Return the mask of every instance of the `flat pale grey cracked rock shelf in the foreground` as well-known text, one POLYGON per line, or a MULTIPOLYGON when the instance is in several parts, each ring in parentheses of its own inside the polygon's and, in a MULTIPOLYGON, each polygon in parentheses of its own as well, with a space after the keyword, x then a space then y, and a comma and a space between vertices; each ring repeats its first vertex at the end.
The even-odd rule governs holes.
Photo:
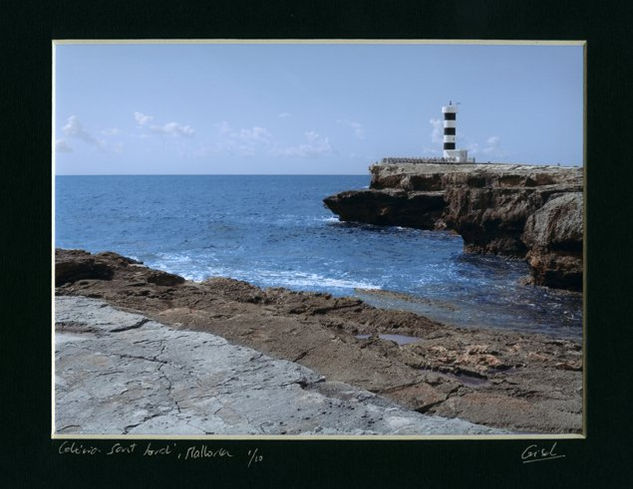
POLYGON ((410 411, 297 363, 85 297, 57 297, 59 434, 435 435, 503 430, 410 411))

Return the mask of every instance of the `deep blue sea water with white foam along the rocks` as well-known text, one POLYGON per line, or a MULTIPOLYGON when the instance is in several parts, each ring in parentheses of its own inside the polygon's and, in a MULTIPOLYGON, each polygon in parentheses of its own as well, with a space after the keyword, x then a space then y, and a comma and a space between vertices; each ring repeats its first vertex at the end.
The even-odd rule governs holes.
POLYGON ((357 295, 461 326, 579 337, 578 294, 520 285, 520 260, 445 232, 346 224, 322 204, 368 176, 56 177, 55 246, 116 251, 192 280, 357 295), (419 297, 399 301, 357 289, 419 297))

